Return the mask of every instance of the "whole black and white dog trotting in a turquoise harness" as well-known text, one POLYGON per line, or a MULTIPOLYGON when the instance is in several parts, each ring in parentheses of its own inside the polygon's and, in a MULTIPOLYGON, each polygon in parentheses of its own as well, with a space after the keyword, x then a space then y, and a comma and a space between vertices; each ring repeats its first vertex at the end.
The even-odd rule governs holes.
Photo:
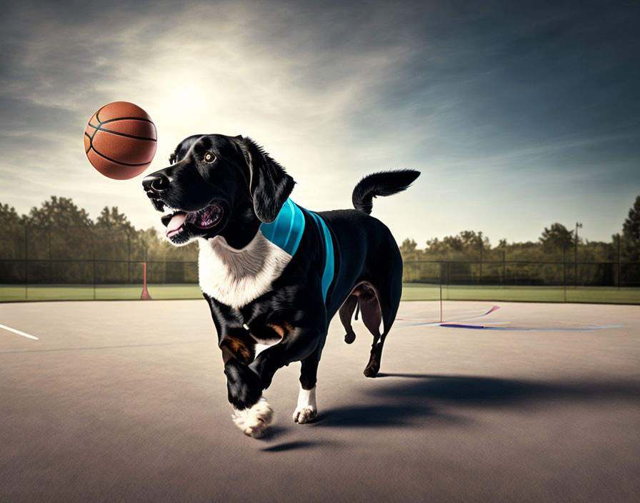
POLYGON ((419 171, 365 176, 355 209, 315 213, 289 199, 294 179, 249 138, 189 136, 169 162, 142 186, 172 244, 199 241, 199 284, 236 425, 264 434, 273 410, 263 392, 291 362, 301 362, 294 422, 316 418, 316 374, 336 312, 351 344, 359 309, 374 337, 364 375, 376 377, 399 307, 402 260, 391 231, 370 216, 372 199, 403 191, 419 171))

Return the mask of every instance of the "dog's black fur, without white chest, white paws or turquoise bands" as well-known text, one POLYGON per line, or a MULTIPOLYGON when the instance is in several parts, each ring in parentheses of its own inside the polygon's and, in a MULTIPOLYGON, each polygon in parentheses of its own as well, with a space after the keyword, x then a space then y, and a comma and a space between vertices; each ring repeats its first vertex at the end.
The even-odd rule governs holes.
MULTIPOLYGON (((185 223, 171 236, 175 244, 194 237, 223 236, 230 246, 241 249, 254 239, 262 222, 276 218, 294 186, 282 166, 242 136, 189 136, 170 161, 171 166, 143 181, 156 209, 169 206, 194 212, 211 204, 222 209, 219 221, 207 229, 185 223), (214 162, 204 161, 207 152, 215 156, 214 162)), ((374 336, 364 373, 377 374, 384 339, 400 302, 402 261, 389 229, 369 216, 371 199, 406 189, 418 175, 404 170, 366 176, 354 189, 356 209, 319 212, 335 254, 336 272, 326 302, 321 291, 325 252, 306 210, 298 250, 268 292, 239 308, 204 294, 218 333, 229 402, 236 409, 255 404, 277 369, 291 362, 301 362, 302 387, 313 388, 327 328, 338 311, 347 332, 345 340, 352 342, 356 336, 351 317, 360 308, 374 336), (256 357, 256 338, 281 340, 256 357)), ((163 221, 166 224, 169 219, 163 221)))

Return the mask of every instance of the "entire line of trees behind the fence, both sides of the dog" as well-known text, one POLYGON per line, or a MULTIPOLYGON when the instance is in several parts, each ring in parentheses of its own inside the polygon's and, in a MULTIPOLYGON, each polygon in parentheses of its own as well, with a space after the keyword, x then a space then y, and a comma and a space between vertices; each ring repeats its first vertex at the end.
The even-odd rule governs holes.
MULTIPOLYGON (((197 280, 197 244, 176 248, 153 227, 136 229, 117 206, 91 219, 66 197, 51 196, 22 215, 0 203, 0 237, 0 283, 139 282, 136 262, 143 261, 157 282, 197 280)), ((406 281, 619 285, 626 274, 628 284, 640 284, 639 265, 629 264, 640 262, 640 196, 611 241, 576 239, 576 229, 554 223, 537 241, 500 239, 492 246, 481 231, 461 231, 425 245, 401 244, 406 281), (575 269, 566 266, 572 262, 575 269), (597 265, 579 271, 577 262, 597 265)))

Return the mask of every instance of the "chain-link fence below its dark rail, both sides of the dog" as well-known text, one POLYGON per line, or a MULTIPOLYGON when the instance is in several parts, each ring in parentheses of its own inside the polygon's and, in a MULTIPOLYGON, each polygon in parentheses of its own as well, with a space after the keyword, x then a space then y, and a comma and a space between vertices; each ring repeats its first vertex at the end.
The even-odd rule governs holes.
MULTIPOLYGON (((199 299, 195 261, 0 259, 0 301, 199 299)), ((640 304, 640 262, 407 261, 405 300, 640 304)))

